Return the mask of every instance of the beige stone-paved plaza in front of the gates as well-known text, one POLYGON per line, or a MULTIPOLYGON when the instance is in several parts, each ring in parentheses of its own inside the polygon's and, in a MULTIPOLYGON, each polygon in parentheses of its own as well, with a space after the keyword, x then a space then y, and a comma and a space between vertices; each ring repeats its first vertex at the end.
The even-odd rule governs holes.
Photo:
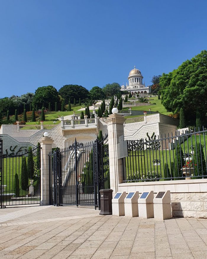
POLYGON ((207 219, 100 216, 94 208, 0 210, 1 259, 206 259, 207 219))

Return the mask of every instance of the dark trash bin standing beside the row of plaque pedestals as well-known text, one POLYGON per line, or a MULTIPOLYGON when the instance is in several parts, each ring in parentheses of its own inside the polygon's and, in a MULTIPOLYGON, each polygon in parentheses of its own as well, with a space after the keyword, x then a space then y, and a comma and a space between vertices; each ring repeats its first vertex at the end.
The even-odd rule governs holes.
POLYGON ((112 192, 111 189, 101 189, 101 212, 99 215, 112 215, 112 192))

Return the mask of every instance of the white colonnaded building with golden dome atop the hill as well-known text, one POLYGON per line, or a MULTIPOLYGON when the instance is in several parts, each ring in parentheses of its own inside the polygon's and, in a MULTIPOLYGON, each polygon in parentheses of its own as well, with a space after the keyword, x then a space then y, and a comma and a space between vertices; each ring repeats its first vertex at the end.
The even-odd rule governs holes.
POLYGON ((134 67, 129 73, 128 84, 121 86, 121 90, 129 91, 132 95, 145 95, 151 93, 151 86, 145 86, 141 71, 134 67))

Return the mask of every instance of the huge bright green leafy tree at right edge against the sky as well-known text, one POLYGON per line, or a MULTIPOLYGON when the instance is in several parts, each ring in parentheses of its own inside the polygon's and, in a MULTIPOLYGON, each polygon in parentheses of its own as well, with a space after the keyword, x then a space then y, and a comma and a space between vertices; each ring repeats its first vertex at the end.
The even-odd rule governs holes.
MULTIPOLYGON (((196 108, 206 114, 207 51, 183 62, 176 70, 160 78, 162 104, 174 113, 185 110, 187 122, 195 123, 196 108)), ((203 118, 204 119, 204 118, 203 118)))

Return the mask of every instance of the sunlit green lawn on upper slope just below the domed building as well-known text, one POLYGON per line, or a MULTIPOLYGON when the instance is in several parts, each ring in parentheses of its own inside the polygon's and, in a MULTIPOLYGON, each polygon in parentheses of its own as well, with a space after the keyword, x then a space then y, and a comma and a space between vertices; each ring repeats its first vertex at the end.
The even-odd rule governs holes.
MULTIPOLYGON (((156 105, 143 105, 143 106, 132 106, 132 110, 149 110, 149 108, 152 111, 158 111, 159 113, 168 115, 172 112, 167 112, 167 110, 164 108, 164 106, 161 104, 161 99, 158 100, 157 96, 153 96, 149 98, 149 101, 152 103, 156 103, 156 105)), ((123 108, 123 110, 128 110, 129 108, 123 108)))

